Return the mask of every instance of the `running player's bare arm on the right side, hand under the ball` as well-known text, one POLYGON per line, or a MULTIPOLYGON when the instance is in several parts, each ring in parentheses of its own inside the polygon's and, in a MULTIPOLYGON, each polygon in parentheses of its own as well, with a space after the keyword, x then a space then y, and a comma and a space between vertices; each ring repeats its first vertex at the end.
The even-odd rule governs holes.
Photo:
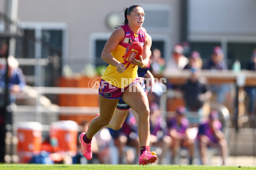
POLYGON ((140 56, 140 59, 134 59, 133 64, 140 66, 141 68, 146 68, 148 66, 149 58, 150 58, 150 48, 152 45, 151 36, 148 33, 145 34, 145 43, 143 47, 143 54, 140 56))

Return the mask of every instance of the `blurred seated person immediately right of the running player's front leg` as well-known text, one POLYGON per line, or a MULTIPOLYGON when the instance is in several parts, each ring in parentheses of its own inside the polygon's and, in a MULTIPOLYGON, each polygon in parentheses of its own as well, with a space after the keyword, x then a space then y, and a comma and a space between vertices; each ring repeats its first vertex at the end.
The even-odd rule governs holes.
POLYGON ((166 151, 169 149, 171 144, 171 138, 168 136, 168 129, 166 122, 164 122, 161 116, 160 108, 156 103, 151 103, 150 108, 150 145, 154 147, 160 147, 162 153, 158 156, 159 164, 163 164, 162 160, 165 156, 166 151))

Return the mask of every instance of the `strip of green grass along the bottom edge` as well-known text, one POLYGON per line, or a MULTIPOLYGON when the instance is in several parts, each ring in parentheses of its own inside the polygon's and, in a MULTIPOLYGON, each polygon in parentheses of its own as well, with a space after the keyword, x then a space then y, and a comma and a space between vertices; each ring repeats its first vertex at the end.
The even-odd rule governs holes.
POLYGON ((198 166, 198 165, 109 165, 109 164, 0 164, 0 170, 256 170, 245 166, 198 166))

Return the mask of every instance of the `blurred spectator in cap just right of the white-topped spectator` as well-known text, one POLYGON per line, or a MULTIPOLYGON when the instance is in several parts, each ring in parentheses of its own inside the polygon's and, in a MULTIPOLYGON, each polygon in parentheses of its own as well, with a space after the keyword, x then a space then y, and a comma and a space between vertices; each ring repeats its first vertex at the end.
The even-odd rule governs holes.
POLYGON ((189 57, 189 63, 184 67, 184 69, 190 69, 192 67, 201 69, 203 62, 198 51, 192 51, 189 57))

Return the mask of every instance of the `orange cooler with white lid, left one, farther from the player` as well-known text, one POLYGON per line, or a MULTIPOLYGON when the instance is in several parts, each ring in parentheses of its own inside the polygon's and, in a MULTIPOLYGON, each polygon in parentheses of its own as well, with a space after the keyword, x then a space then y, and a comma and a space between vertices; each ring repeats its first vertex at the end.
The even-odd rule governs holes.
POLYGON ((20 163, 28 163, 33 154, 41 150, 42 125, 39 122, 19 122, 17 137, 20 163))

